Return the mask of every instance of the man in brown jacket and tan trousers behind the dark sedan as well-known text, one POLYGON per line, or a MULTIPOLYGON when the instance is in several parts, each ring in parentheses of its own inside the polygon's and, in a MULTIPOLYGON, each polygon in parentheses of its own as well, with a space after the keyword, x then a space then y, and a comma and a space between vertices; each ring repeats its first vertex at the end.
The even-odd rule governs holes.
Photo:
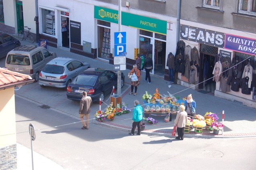
POLYGON ((92 106, 92 98, 87 96, 87 92, 83 91, 83 97, 80 100, 79 118, 82 122, 83 127, 81 129, 89 129, 89 116, 92 106), (85 122, 84 122, 85 116, 85 122))

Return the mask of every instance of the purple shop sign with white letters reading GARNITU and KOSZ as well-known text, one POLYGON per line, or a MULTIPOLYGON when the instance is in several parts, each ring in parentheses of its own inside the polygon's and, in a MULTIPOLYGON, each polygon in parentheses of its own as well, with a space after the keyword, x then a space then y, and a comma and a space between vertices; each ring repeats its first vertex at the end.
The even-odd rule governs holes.
POLYGON ((226 34, 225 36, 225 48, 242 52, 246 54, 256 55, 256 40, 252 38, 246 38, 242 36, 235 36, 226 34))

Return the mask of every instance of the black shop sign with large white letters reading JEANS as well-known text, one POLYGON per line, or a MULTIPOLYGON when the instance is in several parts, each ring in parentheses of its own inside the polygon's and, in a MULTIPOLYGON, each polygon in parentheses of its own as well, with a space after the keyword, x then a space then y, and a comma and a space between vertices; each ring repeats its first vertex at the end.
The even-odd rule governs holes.
POLYGON ((222 32, 180 25, 180 38, 183 40, 224 48, 224 37, 225 34, 222 32))

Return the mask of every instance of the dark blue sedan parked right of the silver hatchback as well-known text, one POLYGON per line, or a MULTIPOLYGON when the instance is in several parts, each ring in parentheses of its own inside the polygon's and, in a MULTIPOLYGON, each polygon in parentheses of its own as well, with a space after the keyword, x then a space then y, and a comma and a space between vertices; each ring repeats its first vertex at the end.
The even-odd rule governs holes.
MULTIPOLYGON (((102 68, 88 68, 81 72, 67 88, 67 97, 70 100, 81 100, 82 92, 86 91, 92 101, 103 101, 104 96, 117 88, 117 73, 102 68)), ((124 85, 124 74, 121 74, 121 88, 124 85)))

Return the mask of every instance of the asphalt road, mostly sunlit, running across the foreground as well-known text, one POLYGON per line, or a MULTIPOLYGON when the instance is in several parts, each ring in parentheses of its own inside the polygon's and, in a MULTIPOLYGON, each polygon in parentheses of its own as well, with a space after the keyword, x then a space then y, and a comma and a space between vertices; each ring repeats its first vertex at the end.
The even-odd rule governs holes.
MULTIPOLYGON (((37 152, 65 170, 253 170, 256 137, 184 138, 134 135, 80 122, 54 110, 16 97, 17 142, 30 148, 28 126, 36 129, 33 141, 37 152)), ((21 157, 18 157, 21 159, 21 157)), ((23 158, 31 162, 31 158, 23 158)), ((40 160, 34 160, 40 169, 40 160)))

